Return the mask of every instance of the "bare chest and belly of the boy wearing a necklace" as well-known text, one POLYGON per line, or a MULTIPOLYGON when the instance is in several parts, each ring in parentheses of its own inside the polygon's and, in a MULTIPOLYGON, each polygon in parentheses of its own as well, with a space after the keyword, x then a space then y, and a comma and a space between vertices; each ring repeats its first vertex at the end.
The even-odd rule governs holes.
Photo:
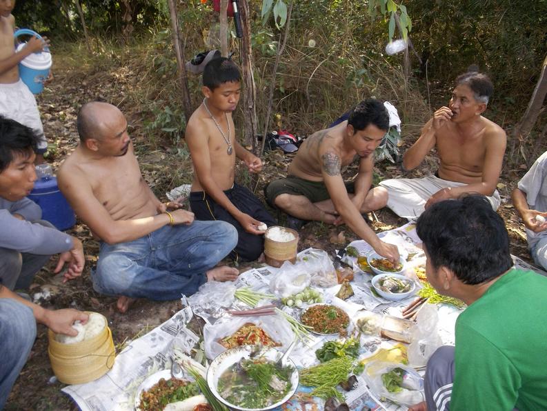
MULTIPOLYGON (((232 120, 232 113, 226 113, 226 116, 219 118, 219 126, 228 137, 228 127, 230 128, 231 142, 235 138, 235 125, 232 120), (228 120, 228 123, 226 123, 228 120), (228 126, 229 125, 229 126, 228 126)), ((210 157, 210 174, 221 190, 228 190, 234 185, 235 177, 235 152, 228 154, 228 145, 223 139, 215 122, 211 119, 203 104, 197 109, 190 120, 186 132, 195 132, 207 141, 210 157), (190 129, 190 130, 188 130, 190 129), (214 159, 214 161, 212 161, 214 159)), ((198 174, 194 170, 192 178, 192 191, 203 191, 204 188, 198 179, 198 174)))

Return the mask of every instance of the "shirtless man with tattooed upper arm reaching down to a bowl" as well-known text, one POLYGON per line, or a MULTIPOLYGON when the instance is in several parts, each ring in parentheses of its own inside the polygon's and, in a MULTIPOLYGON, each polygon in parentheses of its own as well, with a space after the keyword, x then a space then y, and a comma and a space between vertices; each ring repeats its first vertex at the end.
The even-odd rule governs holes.
POLYGON ((344 222, 378 254, 398 260, 397 247, 380 241, 361 216, 386 203, 386 190, 372 191, 370 185, 374 150, 388 128, 384 105, 375 99, 361 101, 348 120, 315 132, 302 143, 288 177, 266 187, 268 202, 297 219, 344 222), (355 159, 359 159, 355 183, 344 183, 341 170, 355 159))

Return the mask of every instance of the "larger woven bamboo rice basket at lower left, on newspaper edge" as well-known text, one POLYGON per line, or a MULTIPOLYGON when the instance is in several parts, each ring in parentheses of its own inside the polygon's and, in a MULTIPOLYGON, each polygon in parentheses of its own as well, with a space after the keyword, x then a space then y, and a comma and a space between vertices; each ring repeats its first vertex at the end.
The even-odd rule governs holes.
POLYGON ((48 331, 48 354, 55 377, 66 384, 83 384, 102 377, 114 365, 116 350, 112 332, 105 328, 91 339, 63 344, 48 331))

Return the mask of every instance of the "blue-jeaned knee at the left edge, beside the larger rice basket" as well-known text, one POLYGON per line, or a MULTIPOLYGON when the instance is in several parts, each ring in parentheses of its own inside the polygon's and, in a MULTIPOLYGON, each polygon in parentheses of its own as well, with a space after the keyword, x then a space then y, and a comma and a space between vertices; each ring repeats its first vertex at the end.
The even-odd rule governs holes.
POLYGON ((13 299, 0 299, 0 410, 25 365, 36 338, 32 310, 13 299))

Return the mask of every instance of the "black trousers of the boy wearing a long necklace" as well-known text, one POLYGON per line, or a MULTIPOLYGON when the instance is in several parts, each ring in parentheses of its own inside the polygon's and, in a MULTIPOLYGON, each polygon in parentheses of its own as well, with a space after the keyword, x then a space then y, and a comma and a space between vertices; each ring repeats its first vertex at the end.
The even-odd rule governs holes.
MULTIPOLYGON (((234 183, 230 190, 224 192, 226 197, 232 201, 232 204, 238 210, 249 214, 252 218, 270 225, 276 225, 277 222, 270 215, 263 203, 255 194, 252 194, 247 188, 234 183)), ((197 220, 220 220, 232 224, 237 229, 239 239, 236 248, 230 254, 230 257, 243 261, 255 261, 260 257, 264 250, 263 235, 251 234, 246 232, 239 221, 232 214, 226 211, 225 208, 219 206, 208 194, 203 191, 190 192, 190 208, 195 214, 197 220)))

